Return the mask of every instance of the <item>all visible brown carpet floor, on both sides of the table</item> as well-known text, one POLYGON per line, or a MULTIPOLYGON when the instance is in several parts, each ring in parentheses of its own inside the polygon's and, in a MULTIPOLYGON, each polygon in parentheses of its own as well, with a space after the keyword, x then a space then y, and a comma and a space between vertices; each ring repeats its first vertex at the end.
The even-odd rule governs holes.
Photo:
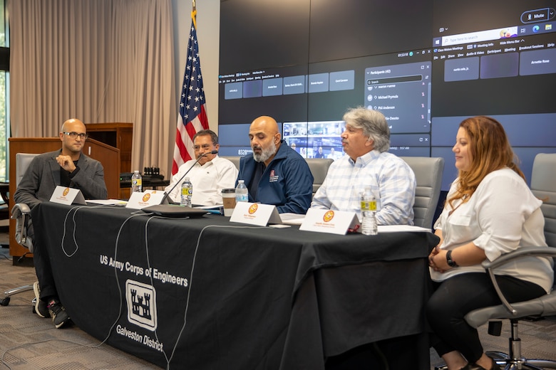
MULTIPOLYGON (((0 244, 8 244, 7 228, 3 226, 0 226, 0 244)), ((33 268, 13 265, 9 248, 0 248, 0 277, 2 297, 5 290, 36 280, 33 268)), ((33 297, 32 290, 14 295, 8 306, 0 307, 0 370, 160 369, 100 344, 75 325, 55 329, 50 319, 32 313, 33 297)), ((509 335, 508 322, 503 324, 501 337, 486 334, 486 326, 480 328, 483 346, 490 351, 508 352, 509 335)), ((520 337, 522 354, 527 358, 556 360, 556 317, 520 322, 520 337)), ((441 364, 441 359, 431 351, 431 369, 441 364)))

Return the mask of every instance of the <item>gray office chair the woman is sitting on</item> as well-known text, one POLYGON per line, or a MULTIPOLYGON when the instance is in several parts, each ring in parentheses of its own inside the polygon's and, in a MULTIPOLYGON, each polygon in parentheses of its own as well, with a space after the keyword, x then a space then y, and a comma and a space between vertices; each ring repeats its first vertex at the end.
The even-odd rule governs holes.
POLYGON ((545 216, 545 238, 547 245, 555 248, 530 247, 520 248, 500 256, 493 262, 483 262, 483 267, 490 275, 493 285, 500 296, 502 305, 473 310, 465 315, 465 321, 472 327, 480 327, 489 320, 489 333, 500 335, 500 319, 510 319, 511 337, 509 353, 488 352, 497 363, 505 369, 556 369, 556 361, 542 359, 525 359, 521 354, 521 339, 518 337, 518 321, 525 317, 546 317, 556 315, 556 291, 525 302, 508 303, 496 283, 493 269, 516 258, 528 255, 556 258, 556 154, 537 154, 533 162, 531 190, 537 198, 542 199, 541 209, 545 216), (496 328, 496 329, 494 329, 496 328))

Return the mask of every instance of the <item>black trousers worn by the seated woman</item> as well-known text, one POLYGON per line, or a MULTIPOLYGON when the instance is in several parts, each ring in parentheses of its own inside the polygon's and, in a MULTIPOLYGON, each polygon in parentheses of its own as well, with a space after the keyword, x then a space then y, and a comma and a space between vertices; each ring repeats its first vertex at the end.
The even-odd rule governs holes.
MULTIPOLYGON (((496 276, 500 290, 508 302, 532 300, 545 295, 539 285, 511 276, 496 276)), ((428 300, 426 314, 433 334, 431 345, 439 356, 460 351, 469 362, 483 354, 477 329, 463 318, 477 308, 500 305, 490 277, 486 273, 464 273, 440 283, 428 300)))

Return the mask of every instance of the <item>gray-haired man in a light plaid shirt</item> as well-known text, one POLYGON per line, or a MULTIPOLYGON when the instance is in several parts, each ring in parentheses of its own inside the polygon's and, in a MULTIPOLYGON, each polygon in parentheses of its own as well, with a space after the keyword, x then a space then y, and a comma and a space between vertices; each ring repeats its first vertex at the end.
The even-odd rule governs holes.
POLYGON ((390 148, 384 115, 357 107, 344 115, 341 144, 346 155, 331 164, 311 208, 354 211, 361 219, 361 192, 371 187, 379 225, 413 225, 416 179, 411 168, 390 148))

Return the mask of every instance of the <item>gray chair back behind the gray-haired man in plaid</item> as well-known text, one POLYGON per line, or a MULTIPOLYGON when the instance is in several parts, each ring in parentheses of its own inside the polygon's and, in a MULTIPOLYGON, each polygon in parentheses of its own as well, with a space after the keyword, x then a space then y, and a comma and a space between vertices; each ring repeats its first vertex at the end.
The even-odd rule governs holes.
POLYGON ((415 173, 417 189, 413 204, 413 224, 433 227, 433 217, 440 197, 444 159, 441 157, 400 157, 415 173))

